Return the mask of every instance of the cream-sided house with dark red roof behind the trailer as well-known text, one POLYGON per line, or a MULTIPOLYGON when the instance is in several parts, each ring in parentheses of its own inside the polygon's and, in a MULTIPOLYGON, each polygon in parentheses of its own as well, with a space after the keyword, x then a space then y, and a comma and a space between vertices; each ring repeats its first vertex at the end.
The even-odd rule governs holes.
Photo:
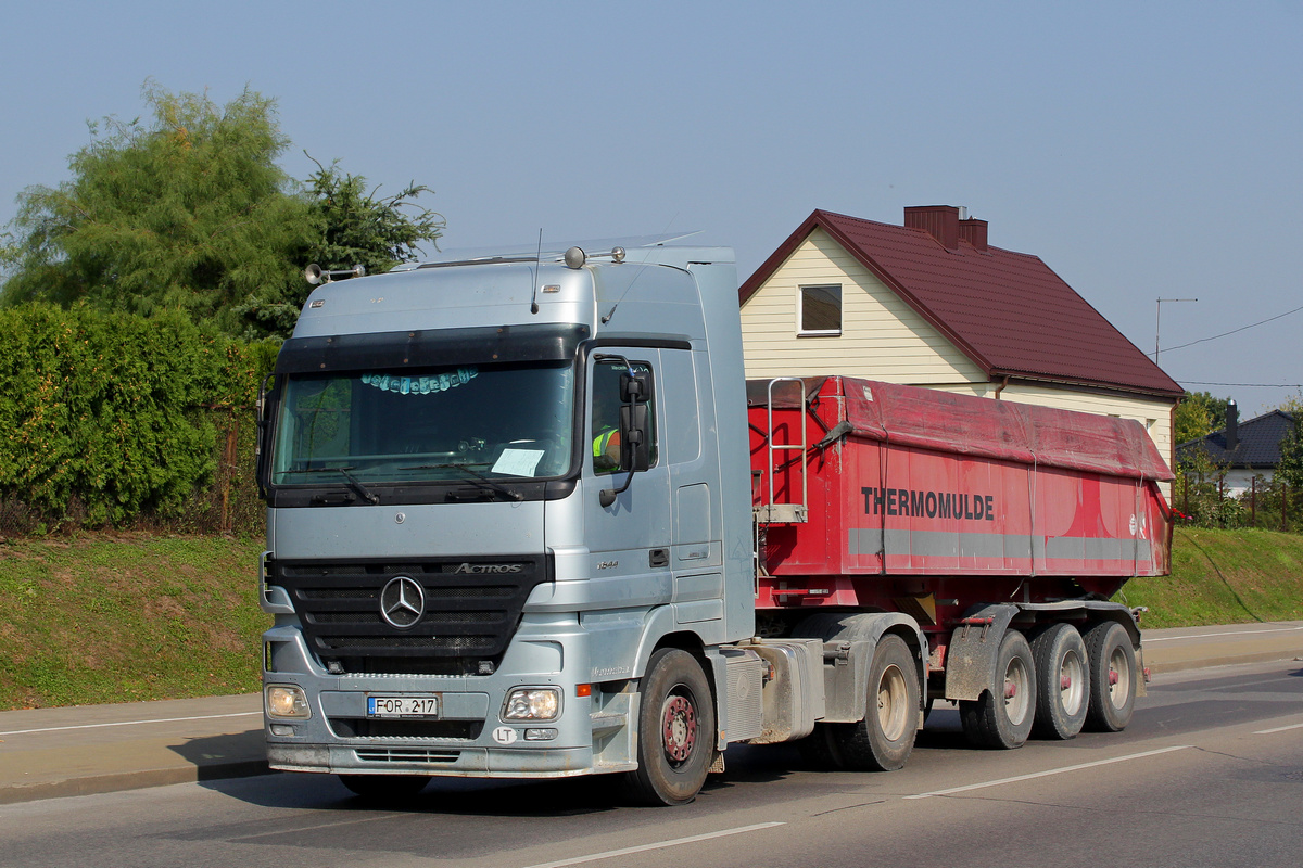
POLYGON ((954 206, 814 211, 739 290, 747 376, 843 373, 1140 422, 1171 463, 1183 394, 1040 258, 954 206))

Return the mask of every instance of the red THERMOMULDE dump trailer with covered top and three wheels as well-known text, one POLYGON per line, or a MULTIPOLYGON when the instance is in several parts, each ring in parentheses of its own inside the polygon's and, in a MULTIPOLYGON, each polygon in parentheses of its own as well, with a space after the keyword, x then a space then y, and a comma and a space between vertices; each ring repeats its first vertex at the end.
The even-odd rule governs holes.
POLYGON ((1110 599, 1167 573, 1171 534, 1139 423, 842 376, 752 381, 748 405, 761 635, 912 618, 929 705, 958 700, 979 743, 1016 746, 1033 712, 1058 738, 1128 722, 1140 632, 1110 599))

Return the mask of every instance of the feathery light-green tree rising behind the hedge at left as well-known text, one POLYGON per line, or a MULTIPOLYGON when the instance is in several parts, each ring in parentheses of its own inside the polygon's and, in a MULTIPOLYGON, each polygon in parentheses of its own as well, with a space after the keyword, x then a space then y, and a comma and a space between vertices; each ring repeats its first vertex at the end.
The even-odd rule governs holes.
POLYGON ((143 95, 151 122, 91 124, 72 180, 21 194, 5 301, 222 319, 250 293, 294 278, 289 254, 317 228, 275 164, 288 141, 274 102, 245 90, 219 107, 152 82, 143 95))

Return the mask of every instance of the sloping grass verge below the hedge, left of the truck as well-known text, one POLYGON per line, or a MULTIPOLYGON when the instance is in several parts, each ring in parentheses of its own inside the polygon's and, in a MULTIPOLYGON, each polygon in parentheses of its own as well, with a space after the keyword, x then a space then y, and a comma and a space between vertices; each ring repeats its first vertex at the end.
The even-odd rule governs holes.
POLYGON ((0 708, 259 690, 261 540, 83 534, 0 545, 0 708))

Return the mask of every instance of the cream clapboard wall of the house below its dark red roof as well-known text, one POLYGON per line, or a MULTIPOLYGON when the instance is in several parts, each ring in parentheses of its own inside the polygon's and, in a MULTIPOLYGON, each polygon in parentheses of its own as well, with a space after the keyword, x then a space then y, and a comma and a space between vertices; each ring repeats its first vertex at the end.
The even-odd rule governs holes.
MULTIPOLYGON (((814 232, 741 308, 748 379, 846 376, 993 398, 998 384, 837 243, 814 232), (799 336, 801 286, 840 284, 842 333, 799 336)), ((999 397, 1062 410, 1135 419, 1171 462, 1171 401, 1010 383, 999 397)), ((1167 485, 1164 492, 1170 497, 1167 485)))

